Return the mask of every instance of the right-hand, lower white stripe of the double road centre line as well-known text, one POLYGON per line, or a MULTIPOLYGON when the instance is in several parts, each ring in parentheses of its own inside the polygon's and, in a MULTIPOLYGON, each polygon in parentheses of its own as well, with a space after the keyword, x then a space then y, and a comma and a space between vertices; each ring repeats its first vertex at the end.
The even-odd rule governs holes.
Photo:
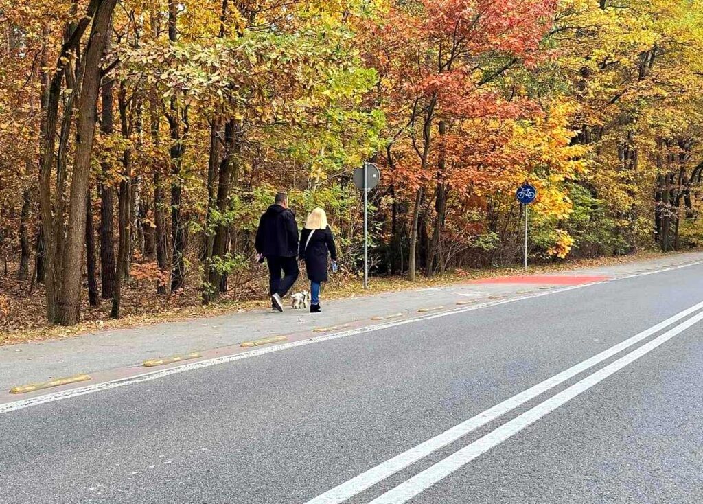
POLYGON ((501 425, 501 427, 498 427, 494 431, 489 432, 489 434, 486 434, 484 437, 477 439, 472 444, 465 446, 465 448, 461 448, 459 451, 449 455, 449 457, 444 460, 441 460, 423 472, 416 474, 411 477, 411 479, 408 479, 406 482, 399 484, 399 486, 396 486, 394 489, 387 491, 382 496, 371 500, 369 504, 402 504, 407 502, 414 496, 417 496, 418 493, 439 482, 441 479, 449 476, 449 474, 460 469, 467 463, 470 463, 479 455, 482 455, 494 446, 501 444, 503 441, 517 434, 517 432, 520 432, 525 427, 532 425, 543 416, 551 413, 560 406, 563 406, 568 401, 574 399, 574 397, 586 392, 586 390, 593 387, 593 385, 597 385, 602 382, 602 380, 605 380, 605 378, 617 373, 628 364, 648 354, 650 351, 659 347, 659 345, 671 340, 671 338, 701 320, 703 320, 703 314, 692 316, 687 321, 676 325, 676 327, 664 332, 664 334, 659 337, 654 338, 654 340, 643 344, 638 349, 622 356, 617 359, 617 361, 608 364, 592 375, 588 375, 583 378, 583 380, 576 382, 571 387, 559 392, 555 396, 550 397, 550 399, 538 404, 525 413, 522 413, 522 415, 510 420, 510 422, 506 422, 501 425))

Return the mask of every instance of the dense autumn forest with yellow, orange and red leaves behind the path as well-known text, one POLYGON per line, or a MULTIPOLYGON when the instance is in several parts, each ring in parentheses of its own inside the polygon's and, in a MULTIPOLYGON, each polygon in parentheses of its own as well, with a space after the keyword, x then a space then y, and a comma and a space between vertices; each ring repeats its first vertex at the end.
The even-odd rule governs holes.
POLYGON ((700 0, 0 0, 0 39, 0 320, 243 296, 277 190, 353 277, 364 161, 377 275, 520 261, 523 181, 534 259, 703 241, 700 0))

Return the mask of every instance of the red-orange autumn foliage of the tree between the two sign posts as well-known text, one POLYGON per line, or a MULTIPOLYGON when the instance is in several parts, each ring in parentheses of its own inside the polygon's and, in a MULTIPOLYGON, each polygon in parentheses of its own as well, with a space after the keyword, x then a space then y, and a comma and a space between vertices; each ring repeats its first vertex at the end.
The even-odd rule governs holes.
POLYGON ((532 58, 554 11, 555 0, 423 0, 389 13, 367 59, 382 67, 381 102, 399 131, 396 187, 444 183, 467 195, 501 187, 523 155, 505 147, 515 121, 543 112, 496 84, 532 58))

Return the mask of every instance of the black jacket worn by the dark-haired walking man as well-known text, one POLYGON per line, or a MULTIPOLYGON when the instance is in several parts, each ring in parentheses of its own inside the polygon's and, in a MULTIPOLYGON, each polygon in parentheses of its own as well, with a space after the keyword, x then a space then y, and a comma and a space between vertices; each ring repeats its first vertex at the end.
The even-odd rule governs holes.
POLYGON ((256 247, 265 257, 295 257, 298 252, 295 214, 280 205, 266 209, 259 219, 256 247))

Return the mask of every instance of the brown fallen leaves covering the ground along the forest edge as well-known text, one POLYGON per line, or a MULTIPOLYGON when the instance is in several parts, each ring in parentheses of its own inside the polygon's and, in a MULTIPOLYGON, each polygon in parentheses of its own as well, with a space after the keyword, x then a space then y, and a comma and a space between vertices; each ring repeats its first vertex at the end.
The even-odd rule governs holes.
MULTIPOLYGON (((529 273, 549 273, 569 269, 612 266, 633 261, 664 257, 661 252, 641 252, 630 256, 583 259, 579 261, 559 261, 552 264, 530 266, 529 273)), ((323 287, 323 299, 344 299, 361 297, 380 292, 396 292, 421 287, 433 287, 460 283, 478 278, 492 278, 522 273, 517 266, 465 271, 458 269, 452 273, 418 277, 411 282, 404 277, 371 277, 368 290, 357 276, 332 276, 323 287)), ((223 293, 219 302, 203 306, 200 289, 190 285, 174 295, 157 295, 155 283, 132 278, 124 288, 122 314, 119 320, 109 317, 110 300, 101 300, 101 306, 87 306, 87 296, 83 296, 81 321, 70 327, 52 326, 46 323, 44 287, 30 285, 11 278, 0 276, 0 344, 15 344, 51 340, 60 337, 73 337, 101 330, 127 329, 155 323, 183 321, 209 316, 246 312, 269 308, 269 299, 263 295, 267 287, 264 266, 261 274, 236 290, 223 293)), ((307 283, 304 272, 297 280, 294 290, 302 290, 307 283)))

